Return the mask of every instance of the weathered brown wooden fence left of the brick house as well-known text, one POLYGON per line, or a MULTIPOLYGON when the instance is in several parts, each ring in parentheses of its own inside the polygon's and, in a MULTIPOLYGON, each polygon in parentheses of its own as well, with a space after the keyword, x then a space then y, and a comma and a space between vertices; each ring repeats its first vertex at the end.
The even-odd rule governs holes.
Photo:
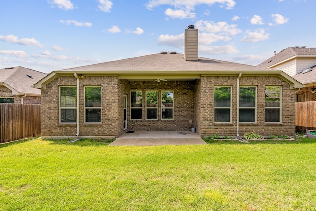
POLYGON ((0 143, 41 135, 41 105, 0 103, 0 143))

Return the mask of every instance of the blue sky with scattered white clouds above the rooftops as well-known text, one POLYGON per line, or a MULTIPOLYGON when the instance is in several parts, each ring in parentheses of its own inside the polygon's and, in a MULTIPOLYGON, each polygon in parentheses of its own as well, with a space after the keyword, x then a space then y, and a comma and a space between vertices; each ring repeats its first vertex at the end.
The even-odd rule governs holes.
POLYGON ((291 46, 316 47, 316 0, 1 0, 0 68, 41 72, 183 53, 258 65, 291 46))

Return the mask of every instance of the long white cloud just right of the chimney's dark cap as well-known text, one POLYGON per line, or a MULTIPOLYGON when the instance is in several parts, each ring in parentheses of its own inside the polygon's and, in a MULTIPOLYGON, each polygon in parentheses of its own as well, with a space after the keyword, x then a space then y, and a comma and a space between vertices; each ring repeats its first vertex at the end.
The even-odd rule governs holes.
POLYGON ((213 22, 199 20, 196 22, 197 29, 203 32, 219 33, 222 35, 237 35, 241 30, 236 28, 236 24, 228 24, 226 22, 213 22))

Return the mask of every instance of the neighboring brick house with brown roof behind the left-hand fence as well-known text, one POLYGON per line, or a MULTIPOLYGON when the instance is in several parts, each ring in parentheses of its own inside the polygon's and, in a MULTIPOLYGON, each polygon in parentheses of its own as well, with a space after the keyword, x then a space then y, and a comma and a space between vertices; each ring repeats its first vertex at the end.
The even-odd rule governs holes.
POLYGON ((0 103, 40 104, 41 91, 31 86, 44 76, 25 67, 0 69, 0 103))

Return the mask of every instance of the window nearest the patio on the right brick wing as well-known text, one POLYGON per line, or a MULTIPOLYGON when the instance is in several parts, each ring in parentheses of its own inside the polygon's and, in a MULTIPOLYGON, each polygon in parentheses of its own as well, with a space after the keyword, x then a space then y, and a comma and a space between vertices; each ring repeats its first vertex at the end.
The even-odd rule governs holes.
POLYGON ((214 87, 214 122, 231 122, 231 87, 214 87))

